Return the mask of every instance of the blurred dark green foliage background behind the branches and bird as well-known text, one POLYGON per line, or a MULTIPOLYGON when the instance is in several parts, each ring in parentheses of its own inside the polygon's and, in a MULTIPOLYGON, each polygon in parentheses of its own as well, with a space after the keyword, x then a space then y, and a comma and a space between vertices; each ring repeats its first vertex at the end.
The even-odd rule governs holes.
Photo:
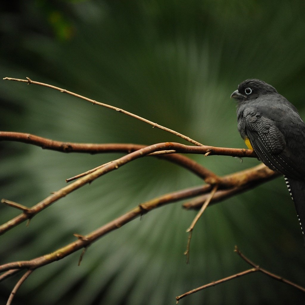
MULTIPOLYGON (((300 1, 12 1, 0 4, 1 77, 30 77, 134 112, 206 145, 245 147, 238 132, 237 85, 272 84, 305 118, 305 2, 300 1)), ((0 81, 0 130, 59 141, 181 142, 116 111, 48 88, 0 81)), ((187 144, 187 143, 185 143, 187 144)), ((64 154, 0 142, 0 197, 33 206, 65 179, 120 154, 64 154)), ((223 175, 258 164, 190 156, 223 175)), ((132 207, 200 185, 188 171, 143 158, 73 192, 0 237, 0 263, 54 251, 132 207)), ((0 206, 4 223, 19 213, 0 206)), ((80 251, 36 270, 14 304, 175 304, 175 296, 249 268, 234 246, 305 285, 305 249, 294 205, 277 178, 206 210, 174 203, 146 214, 80 251)), ((5 303, 20 274, 0 285, 5 303)), ((179 304, 304 304, 296 289, 251 274, 179 304)))

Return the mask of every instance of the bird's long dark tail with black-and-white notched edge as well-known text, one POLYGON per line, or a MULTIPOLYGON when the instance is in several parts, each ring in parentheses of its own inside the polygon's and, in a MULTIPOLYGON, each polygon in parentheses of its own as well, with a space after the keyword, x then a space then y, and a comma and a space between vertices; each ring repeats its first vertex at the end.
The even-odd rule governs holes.
POLYGON ((288 187, 291 198, 296 206, 296 213, 298 214, 301 230, 305 229, 305 181, 294 180, 284 176, 286 185, 288 187))

